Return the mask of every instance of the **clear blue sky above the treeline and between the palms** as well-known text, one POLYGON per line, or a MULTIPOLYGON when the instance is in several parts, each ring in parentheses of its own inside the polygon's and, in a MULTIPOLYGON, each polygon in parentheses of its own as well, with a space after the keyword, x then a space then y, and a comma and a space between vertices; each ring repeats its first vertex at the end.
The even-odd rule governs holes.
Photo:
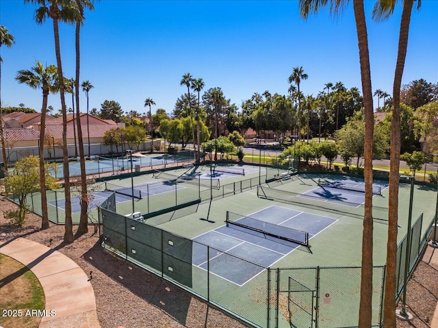
MULTIPOLYGON (((373 5, 365 1, 372 88, 391 94, 401 8, 389 20, 374 23, 373 5)), ((4 107, 22 102, 39 111, 40 90, 19 85, 14 77, 36 60, 56 64, 52 21, 37 25, 35 9, 22 0, 0 1, 0 24, 16 39, 11 48, 1 47, 4 107)), ((423 0, 420 11, 412 14, 402 83, 421 78, 438 82, 437 31, 438 1, 423 0)), ((60 38, 64 76, 74 77, 74 27, 60 25, 60 38)), ((316 96, 325 83, 338 81, 361 90, 352 3, 339 18, 324 10, 305 21, 298 1, 101 0, 86 12, 81 29, 81 81, 94 85, 90 109, 115 100, 125 112, 144 113, 149 110, 144 99, 153 98, 153 112, 163 108, 171 113, 187 92, 179 85, 187 72, 204 79, 204 90, 221 87, 240 106, 255 92, 287 94, 287 78, 296 66, 309 75, 300 85, 304 94, 316 96)), ((49 96, 49 105, 60 109, 59 95, 49 96)), ((81 111, 86 111, 83 92, 81 111)))

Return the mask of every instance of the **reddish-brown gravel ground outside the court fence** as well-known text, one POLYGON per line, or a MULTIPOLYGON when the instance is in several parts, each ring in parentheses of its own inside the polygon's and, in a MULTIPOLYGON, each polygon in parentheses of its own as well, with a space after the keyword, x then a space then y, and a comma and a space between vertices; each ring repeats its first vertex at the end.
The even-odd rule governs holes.
MULTIPOLYGON (((64 245, 64 226, 40 231, 41 218, 29 214, 22 228, 11 226, 3 213, 16 208, 0 196, 0 244, 23 236, 74 260, 87 274, 92 271, 97 316, 102 328, 130 327, 245 327, 223 312, 209 307, 188 292, 105 251, 94 227, 75 243, 64 245)), ((75 230, 75 227, 74 227, 75 230)), ((438 249, 428 247, 407 290, 411 323, 397 320, 397 327, 430 327, 438 301, 438 264, 430 261, 438 249)), ((437 256, 437 254, 435 254, 437 256)))

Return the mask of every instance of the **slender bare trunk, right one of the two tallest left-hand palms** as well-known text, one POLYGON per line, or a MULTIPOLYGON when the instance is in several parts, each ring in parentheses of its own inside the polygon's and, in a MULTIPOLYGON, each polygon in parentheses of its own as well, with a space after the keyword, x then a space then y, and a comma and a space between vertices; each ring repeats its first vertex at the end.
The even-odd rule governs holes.
MULTIPOLYGON (((77 1, 80 11, 82 13, 81 3, 77 1)), ((76 44, 76 78, 75 78, 75 90, 76 90, 76 120, 77 120, 77 138, 79 142, 79 165, 81 166, 81 218, 79 220, 79 228, 77 228, 77 236, 88 232, 88 190, 87 190, 87 173, 85 167, 85 154, 83 152, 83 137, 81 126, 81 112, 79 110, 79 72, 80 72, 80 36, 81 24, 76 23, 75 29, 75 44, 76 44)), ((73 122, 74 124, 74 122, 73 122)))

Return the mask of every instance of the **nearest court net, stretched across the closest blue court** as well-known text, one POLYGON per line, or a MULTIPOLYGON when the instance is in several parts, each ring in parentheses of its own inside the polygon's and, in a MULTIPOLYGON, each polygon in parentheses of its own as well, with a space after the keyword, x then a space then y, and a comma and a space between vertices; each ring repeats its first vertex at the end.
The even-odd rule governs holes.
POLYGON ((231 213, 227 210, 227 227, 231 224, 242 228, 241 230, 247 232, 250 230, 256 232, 257 235, 271 236, 274 238, 282 239, 283 241, 289 241, 291 243, 297 243, 309 246, 309 232, 278 226, 274 223, 261 221, 254 219, 253 217, 247 217, 236 213, 231 213))

